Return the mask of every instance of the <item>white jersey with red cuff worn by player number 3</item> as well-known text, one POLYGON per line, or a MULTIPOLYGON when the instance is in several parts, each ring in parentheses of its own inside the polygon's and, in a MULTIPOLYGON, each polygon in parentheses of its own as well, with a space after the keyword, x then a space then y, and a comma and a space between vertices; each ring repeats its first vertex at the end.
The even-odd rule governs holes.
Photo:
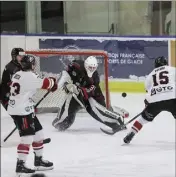
POLYGON ((31 71, 19 71, 12 77, 8 113, 10 115, 28 115, 34 112, 32 96, 37 89, 52 88, 52 80, 40 78, 31 71))

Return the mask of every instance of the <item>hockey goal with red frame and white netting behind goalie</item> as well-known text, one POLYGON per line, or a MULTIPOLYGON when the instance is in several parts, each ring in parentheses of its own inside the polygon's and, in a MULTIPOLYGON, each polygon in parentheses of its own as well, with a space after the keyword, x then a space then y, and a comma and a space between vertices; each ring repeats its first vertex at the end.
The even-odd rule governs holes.
MULTIPOLYGON (((33 50, 25 51, 26 54, 35 55, 37 58, 36 72, 44 77, 54 76, 57 79, 60 73, 72 60, 85 60, 88 56, 95 56, 98 60, 98 73, 100 75, 100 86, 105 95, 106 105, 109 107, 109 88, 108 88, 108 55, 101 50, 33 50)), ((44 95, 45 90, 38 90, 33 99, 37 103, 44 95)), ((57 112, 62 104, 62 90, 50 93, 37 107, 38 113, 57 112)))

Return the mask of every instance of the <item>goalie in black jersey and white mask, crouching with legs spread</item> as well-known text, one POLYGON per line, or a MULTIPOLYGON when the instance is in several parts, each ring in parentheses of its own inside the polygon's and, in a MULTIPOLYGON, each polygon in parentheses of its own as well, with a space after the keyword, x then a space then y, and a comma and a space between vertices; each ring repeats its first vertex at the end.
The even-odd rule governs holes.
POLYGON ((52 123, 59 131, 66 130, 74 123, 76 113, 82 108, 81 104, 94 119, 112 129, 123 124, 122 115, 106 109, 97 67, 97 59, 90 56, 85 61, 73 60, 62 72, 58 87, 65 90, 66 96, 52 123))

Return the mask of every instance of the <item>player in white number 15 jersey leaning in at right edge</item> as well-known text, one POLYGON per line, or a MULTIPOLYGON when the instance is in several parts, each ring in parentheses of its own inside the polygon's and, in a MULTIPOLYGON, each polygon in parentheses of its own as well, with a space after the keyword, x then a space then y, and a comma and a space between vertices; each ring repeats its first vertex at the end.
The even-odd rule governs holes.
POLYGON ((146 108, 124 138, 127 144, 144 124, 153 121, 160 112, 168 111, 176 119, 176 68, 168 66, 164 57, 155 59, 155 69, 148 75, 145 88, 146 108))

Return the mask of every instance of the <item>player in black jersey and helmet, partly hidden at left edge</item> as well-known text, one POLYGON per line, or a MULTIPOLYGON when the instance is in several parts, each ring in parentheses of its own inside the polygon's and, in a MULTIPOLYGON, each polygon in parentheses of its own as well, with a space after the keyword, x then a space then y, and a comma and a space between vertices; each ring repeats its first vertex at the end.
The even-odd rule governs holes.
POLYGON ((12 75, 21 70, 20 61, 23 57, 22 48, 13 48, 11 51, 12 60, 5 66, 0 83, 0 100, 5 109, 7 109, 10 93, 10 83, 12 75))

